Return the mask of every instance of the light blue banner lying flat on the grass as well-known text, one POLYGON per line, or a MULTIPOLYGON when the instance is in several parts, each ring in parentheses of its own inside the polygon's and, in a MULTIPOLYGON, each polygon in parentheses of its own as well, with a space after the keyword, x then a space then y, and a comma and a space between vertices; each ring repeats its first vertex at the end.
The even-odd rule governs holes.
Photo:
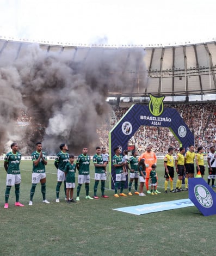
POLYGON ((174 200, 174 201, 154 203, 154 204, 129 206, 129 207, 117 208, 113 210, 126 212, 127 214, 142 215, 142 214, 150 214, 152 212, 158 212, 158 211, 185 208, 189 206, 194 206, 194 204, 191 202, 190 199, 181 199, 181 200, 174 200))

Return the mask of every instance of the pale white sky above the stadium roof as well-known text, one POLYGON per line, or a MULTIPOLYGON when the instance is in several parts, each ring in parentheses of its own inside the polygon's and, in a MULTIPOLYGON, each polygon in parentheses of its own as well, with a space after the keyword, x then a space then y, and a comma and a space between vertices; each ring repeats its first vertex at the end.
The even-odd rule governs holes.
POLYGON ((65 44, 186 44, 216 38, 215 0, 0 0, 0 36, 65 44))

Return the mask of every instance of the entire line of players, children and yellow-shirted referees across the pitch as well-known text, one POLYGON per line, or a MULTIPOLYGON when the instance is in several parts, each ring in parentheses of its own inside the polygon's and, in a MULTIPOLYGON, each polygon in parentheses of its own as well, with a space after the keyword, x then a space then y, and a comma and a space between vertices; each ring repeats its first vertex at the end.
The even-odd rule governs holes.
MULTIPOLYGON (((11 151, 4 157, 4 168, 7 172, 6 178, 6 190, 5 190, 5 204, 4 208, 9 208, 9 195, 11 186, 15 186, 15 206, 24 206, 20 203, 20 162, 21 153, 18 151, 18 144, 12 143, 10 145, 11 151)), ((99 199, 97 194, 97 188, 101 181, 101 197, 109 198, 104 194, 105 182, 107 180, 107 165, 109 162, 109 154, 106 148, 96 147, 95 155, 93 156, 93 164, 95 167, 95 184, 94 184, 94 196, 89 196, 89 184, 90 184, 90 162, 91 157, 88 155, 88 147, 84 147, 82 154, 79 155, 75 162, 75 156, 69 155, 67 144, 60 145, 60 152, 55 156, 54 166, 57 168, 57 186, 56 186, 56 199, 55 202, 59 203, 59 193, 62 182, 64 182, 64 193, 66 203, 76 203, 80 201, 79 193, 81 187, 85 184, 85 199, 99 199), (77 181, 77 195, 76 200, 73 198, 75 189, 75 173, 78 170, 77 181)), ((159 194, 157 190, 157 157, 152 151, 151 145, 147 145, 146 151, 138 157, 136 150, 132 151, 132 156, 128 157, 128 151, 124 150, 123 155, 121 149, 116 147, 114 149, 115 155, 112 157, 112 164, 115 168, 115 184, 114 197, 126 197, 132 196, 131 188, 134 182, 134 194, 139 196, 145 196, 144 185, 146 187, 146 193, 155 195, 159 194), (129 184, 128 193, 124 193, 125 182, 127 180, 129 170, 129 184), (139 191, 138 191, 139 180, 139 191), (150 181, 150 186, 149 186, 150 181), (118 190, 120 188, 120 193, 118 190)), ((185 153, 185 149, 181 147, 174 159, 174 148, 168 149, 168 154, 164 157, 164 193, 168 193, 168 184, 170 181, 170 192, 188 191, 188 179, 194 178, 196 163, 196 173, 202 177, 205 174, 205 165, 203 157, 203 148, 199 147, 197 153, 194 152, 194 145, 189 145, 189 150, 185 153), (175 169, 177 173, 176 188, 174 188, 174 173, 175 169), (184 178, 184 188, 182 188, 182 180, 184 178)), ((214 180, 216 175, 216 155, 215 147, 209 148, 207 155, 208 162, 208 178, 207 182, 210 185, 212 181, 212 187, 215 187, 214 180)), ((36 143, 36 150, 32 153, 32 187, 30 188, 30 200, 29 205, 33 205, 33 197, 35 188, 38 183, 41 184, 42 202, 50 204, 46 199, 46 169, 47 156, 42 151, 42 143, 36 143)))

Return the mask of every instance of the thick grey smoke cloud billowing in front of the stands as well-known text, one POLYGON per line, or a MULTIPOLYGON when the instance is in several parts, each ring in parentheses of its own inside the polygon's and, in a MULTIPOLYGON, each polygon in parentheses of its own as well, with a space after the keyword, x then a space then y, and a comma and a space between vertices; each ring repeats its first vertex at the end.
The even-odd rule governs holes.
MULTIPOLYGON (((16 141, 23 154, 30 154, 41 139, 48 154, 59 151, 61 143, 67 143, 71 153, 81 153, 85 145, 94 152, 100 145, 96 128, 110 111, 108 92, 132 93, 134 81, 128 72, 138 70, 144 76, 146 70, 142 48, 89 48, 79 61, 45 52, 38 44, 29 44, 16 59, 11 51, 5 49, 0 56, 1 152, 16 141), (20 109, 30 113, 32 125, 17 126, 20 109)), ((139 84, 143 92, 145 82, 139 84)))

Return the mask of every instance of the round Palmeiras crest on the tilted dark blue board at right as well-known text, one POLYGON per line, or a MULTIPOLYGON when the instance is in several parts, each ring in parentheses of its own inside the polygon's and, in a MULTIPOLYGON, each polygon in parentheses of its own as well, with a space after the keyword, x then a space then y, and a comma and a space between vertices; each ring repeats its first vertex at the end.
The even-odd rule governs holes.
POLYGON ((194 187, 194 193, 196 200, 205 208, 210 208, 213 204, 213 198, 211 193, 205 186, 196 185, 194 187))

